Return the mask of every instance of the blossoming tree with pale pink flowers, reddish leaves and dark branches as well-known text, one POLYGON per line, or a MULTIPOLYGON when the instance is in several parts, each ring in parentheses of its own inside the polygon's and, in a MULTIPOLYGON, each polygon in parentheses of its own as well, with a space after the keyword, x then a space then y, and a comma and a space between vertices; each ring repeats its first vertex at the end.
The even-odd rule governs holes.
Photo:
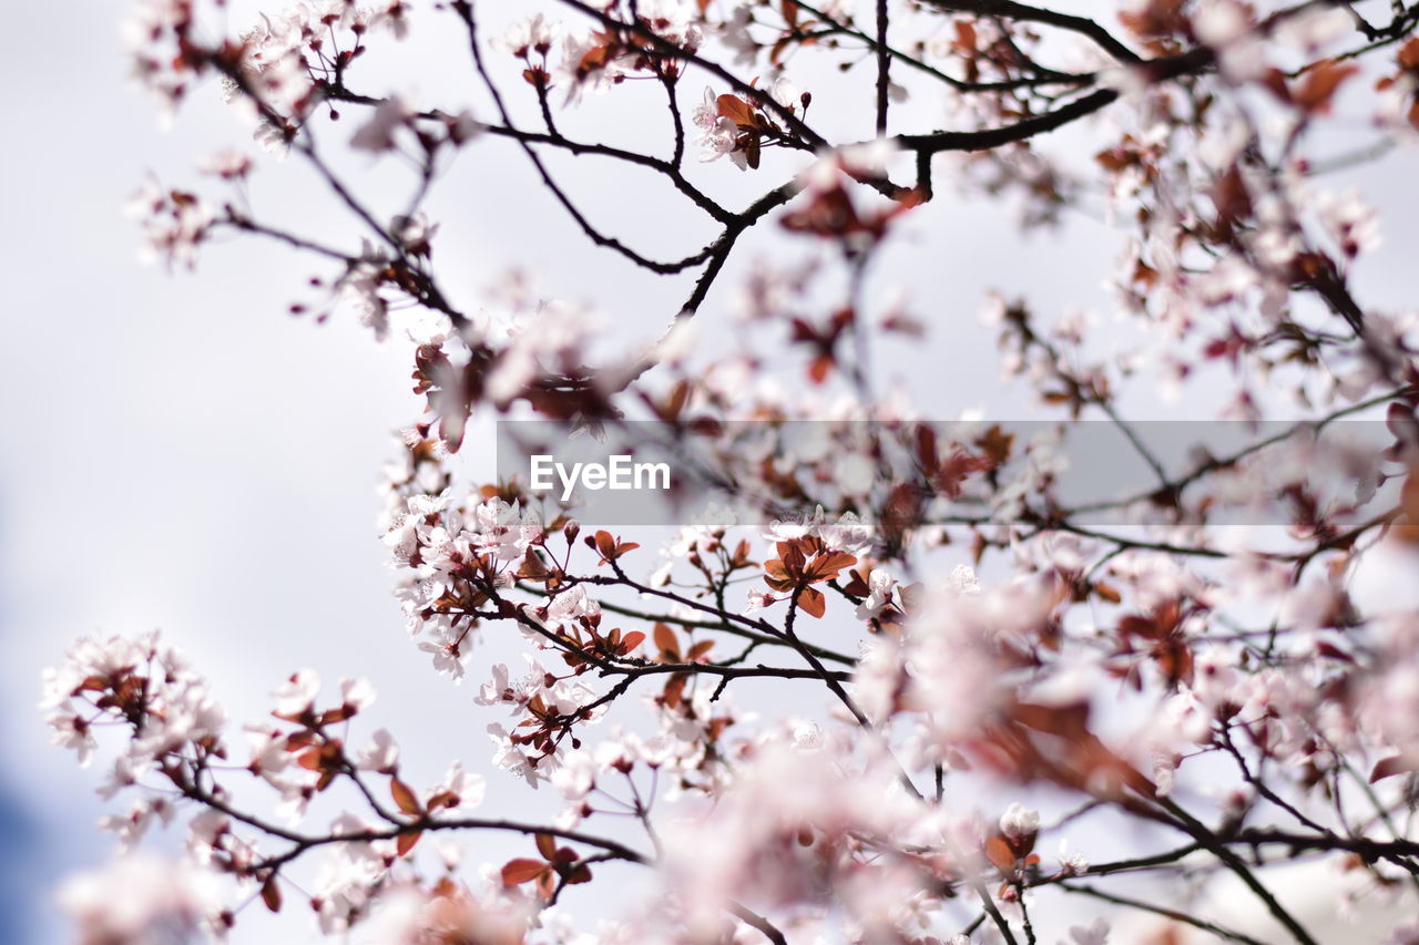
POLYGON ((186 846, 71 880, 82 941, 240 936, 267 910, 292 936, 314 915, 379 942, 1317 945, 1274 878, 1301 860, 1357 880, 1332 905, 1413 914, 1419 610, 1354 582, 1413 573, 1419 309, 1366 298, 1378 214, 1327 175, 1413 146, 1419 7, 1098 6, 312 0, 234 26, 223 0, 139 3, 133 71, 162 109, 220 81, 255 128, 197 183, 145 186, 146 247, 190 268, 272 241, 311 267, 297 316, 407 346, 424 411, 370 539, 392 631, 402 612, 429 673, 463 682, 464 731, 562 806, 481 806, 453 758, 406 776, 397 734, 365 725, 370 680, 288 667, 263 682, 271 714, 237 721, 158 636, 85 637, 44 680, 55 741, 101 761, 125 850, 159 824, 186 846), (440 74, 461 78, 390 94, 382 57, 419 44, 455 48, 440 74), (1061 129, 1087 153, 1053 149, 1061 129), (637 312, 656 343, 609 346, 535 280, 465 292, 437 250, 470 209, 437 183, 480 152, 529 163, 561 210, 542 226, 684 282, 637 312), (593 199, 613 172, 708 241, 619 234, 593 199), (338 226, 248 189, 297 173, 338 226), (1100 214, 1125 243, 1118 325, 1012 287, 969 301, 1050 420, 1033 436, 935 424, 955 420, 937 379, 887 376, 884 350, 952 338, 959 299, 874 280, 904 227, 952 226, 946 190, 1022 228, 1100 214), (727 268, 765 230, 792 251, 727 268), (1130 419, 1139 379, 1267 426, 1164 455, 1130 419), (654 421, 704 448, 738 516, 656 548, 526 481, 465 481, 494 416, 654 421), (1067 494, 1087 419, 1147 482, 1067 494), (1331 438, 1347 419, 1381 441, 1331 438), (795 421, 823 443, 783 448, 795 421), (751 690, 773 698, 736 708, 751 690), (487 833, 524 856, 478 861, 487 833), (1101 841, 1124 833, 1127 856, 1101 841), (1195 908, 1222 875, 1273 938, 1195 908))

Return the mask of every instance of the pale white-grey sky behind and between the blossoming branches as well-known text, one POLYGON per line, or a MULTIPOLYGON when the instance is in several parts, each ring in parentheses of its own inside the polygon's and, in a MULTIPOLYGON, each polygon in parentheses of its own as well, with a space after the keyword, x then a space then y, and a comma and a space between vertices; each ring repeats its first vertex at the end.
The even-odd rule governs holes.
MULTIPOLYGON (((507 10, 532 6, 508 3, 507 10)), ((0 31, 7 89, 0 102, 0 805, 10 809, 0 810, 0 824, 23 823, 28 833, 9 844, 0 880, 20 884, 17 901, 34 922, 30 941, 62 939, 48 904, 53 883, 74 867, 102 863, 114 847, 94 826, 116 809, 94 796, 102 755, 94 769, 78 770, 68 752, 48 745, 35 711, 40 668, 57 663, 78 634, 160 627, 209 675, 234 722, 261 718, 270 690, 292 670, 318 668, 328 687, 342 675, 369 675, 380 700, 362 731, 383 725, 399 736, 410 780, 433 782, 461 755, 490 775, 485 809, 524 813, 511 810, 526 797, 521 782, 487 765, 484 726, 502 715, 471 705, 485 654, 474 657, 461 688, 436 678, 389 596, 375 485, 380 465, 396 455, 392 431, 420 407, 409 392, 407 345, 379 346, 350 316, 325 326, 289 316, 291 301, 309 298, 304 280, 325 270, 284 248, 254 240, 209 247, 196 275, 140 267, 138 231, 122 209, 143 175, 197 183, 193 163, 224 145, 253 150, 248 131, 213 84, 197 89, 173 131, 159 129, 153 104, 126 81, 123 3, 82 11, 60 3, 9 7, 0 31)), ((444 57, 443 78, 397 74, 380 82, 356 68, 353 84, 370 94, 433 89, 438 95, 419 101, 477 109, 461 34, 447 28, 447 14, 443 35, 420 33, 436 16, 417 11, 414 41, 429 44, 419 52, 444 57)), ((492 24, 488 33, 497 33, 492 24)), ((386 37, 373 45, 372 62, 394 47, 386 37)), ((413 52, 397 55, 412 62, 413 52)), ((702 84, 698 77, 684 82, 687 108, 702 84)), ((511 84, 508 91, 531 98, 511 84)), ((815 119, 833 128, 830 89, 813 91, 815 119)), ((866 84, 857 91, 870 94, 866 84)), ((664 148, 663 128, 637 136, 634 126, 644 121, 636 96, 651 95, 648 114, 660 121, 654 87, 569 114, 563 131, 664 148)), ((359 121, 358 109, 342 111, 341 125, 316 119, 326 152, 342 146, 359 121)), ((843 111, 870 121, 863 102, 843 111)), ((920 129, 937 123, 929 99, 915 101, 911 115, 920 129)), ((1067 143, 1069 135, 1057 140, 1067 143)), ((1410 155, 1399 152, 1368 172, 1386 192, 1386 247, 1368 264, 1371 278, 1358 284, 1364 301, 1412 302, 1406 255, 1419 224, 1410 155)), ((342 166, 368 172, 376 193, 404 193, 393 166, 342 166)), ((553 159, 552 166, 589 216, 633 245, 673 257, 711 236, 704 221, 667 216, 658 190, 627 187, 612 163, 553 159)), ((691 173, 738 206, 792 166, 772 155, 756 175, 727 162, 691 173)), ((255 209, 285 207, 288 219, 308 224, 302 228, 349 244, 355 224, 312 186, 297 159, 263 160, 255 209)), ((978 407, 1022 416, 1020 393, 998 382, 992 335, 976 325, 983 294, 1023 294, 1050 315, 1071 305, 1107 315, 1100 282, 1112 270, 1117 243, 1083 217, 1056 236, 1022 237, 1013 210, 962 204, 941 170, 938 192, 876 281, 878 289, 890 282, 912 288, 912 311, 934 325, 931 346, 888 350, 887 366, 927 379, 914 386, 927 413, 952 417, 978 407), (927 366, 934 368, 924 373, 927 366)), ((668 187, 664 193, 674 196, 668 187)), ((613 349, 656 336, 694 278, 650 277, 590 247, 508 142, 475 142, 437 184, 429 209, 444 227, 434 258, 458 304, 477 308, 477 291, 521 262, 546 295, 600 302, 614 326, 613 349)), ((728 325, 735 274, 756 248, 782 244, 773 224, 741 241, 701 309, 707 343, 728 325)), ((1145 402, 1155 403, 1149 392, 1145 402)), ((1205 416, 1188 404, 1175 410, 1205 416)), ((465 447, 475 475, 491 470, 480 444, 491 437, 475 430, 465 447)), ((546 792, 536 796, 542 809, 551 800, 546 792)), ((473 858, 519 851, 508 840, 473 858)), ((304 928, 304 918, 287 918, 288 932, 304 928)))

